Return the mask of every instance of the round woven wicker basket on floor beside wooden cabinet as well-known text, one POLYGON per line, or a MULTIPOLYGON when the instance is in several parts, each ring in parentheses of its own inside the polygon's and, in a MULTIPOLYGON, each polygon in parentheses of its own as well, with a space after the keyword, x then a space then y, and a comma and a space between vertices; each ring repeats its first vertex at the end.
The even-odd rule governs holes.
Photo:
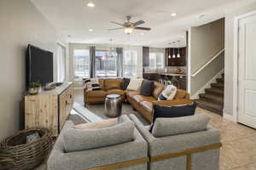
POLYGON ((38 167, 52 146, 47 129, 22 130, 4 140, 0 146, 0 169, 30 170, 38 167), (26 136, 38 133, 40 139, 26 144, 26 136))

